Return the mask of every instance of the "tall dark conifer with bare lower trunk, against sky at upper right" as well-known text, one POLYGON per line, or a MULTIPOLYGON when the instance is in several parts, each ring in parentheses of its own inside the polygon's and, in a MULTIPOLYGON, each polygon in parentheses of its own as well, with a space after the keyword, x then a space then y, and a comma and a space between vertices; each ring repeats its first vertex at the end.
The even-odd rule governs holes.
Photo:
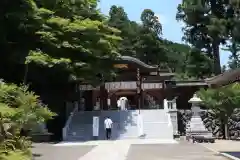
POLYGON ((208 53, 213 59, 214 73, 221 73, 219 45, 227 37, 229 3, 220 0, 183 0, 178 5, 177 20, 183 21, 184 40, 208 53))

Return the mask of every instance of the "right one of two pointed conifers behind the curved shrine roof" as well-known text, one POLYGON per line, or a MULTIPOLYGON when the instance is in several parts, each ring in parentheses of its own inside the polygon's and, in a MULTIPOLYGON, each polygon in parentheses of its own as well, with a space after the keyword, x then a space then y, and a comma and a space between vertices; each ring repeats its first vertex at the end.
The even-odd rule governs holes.
MULTIPOLYGON (((136 42, 137 58, 147 64, 163 65, 166 63, 166 50, 160 42, 162 25, 158 17, 150 9, 141 14, 142 24, 139 26, 138 41, 136 42)), ((165 64, 166 65, 166 64, 165 64)))

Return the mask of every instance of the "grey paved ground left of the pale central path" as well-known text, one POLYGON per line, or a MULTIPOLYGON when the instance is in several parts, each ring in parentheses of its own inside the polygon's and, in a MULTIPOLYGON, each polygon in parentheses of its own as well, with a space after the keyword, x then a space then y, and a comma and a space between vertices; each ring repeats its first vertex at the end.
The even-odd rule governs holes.
POLYGON ((77 160, 94 146, 67 146, 56 147, 52 144, 34 144, 32 152, 34 160, 77 160))

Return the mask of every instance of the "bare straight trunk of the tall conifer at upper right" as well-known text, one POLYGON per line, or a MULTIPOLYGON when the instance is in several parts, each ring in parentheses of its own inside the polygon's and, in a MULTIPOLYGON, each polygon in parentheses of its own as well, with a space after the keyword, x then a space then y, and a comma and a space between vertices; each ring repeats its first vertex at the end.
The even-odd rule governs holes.
POLYGON ((220 64, 220 55, 219 55, 219 43, 213 43, 213 58, 214 58, 214 73, 216 75, 221 74, 221 64, 220 64))

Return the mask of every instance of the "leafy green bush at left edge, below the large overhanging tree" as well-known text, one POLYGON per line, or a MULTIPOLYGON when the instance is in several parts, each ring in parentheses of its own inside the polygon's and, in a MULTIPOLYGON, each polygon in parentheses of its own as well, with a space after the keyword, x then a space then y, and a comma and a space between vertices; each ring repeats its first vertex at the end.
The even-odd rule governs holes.
POLYGON ((28 91, 27 86, 0 84, 0 103, 7 105, 3 113, 11 113, 11 120, 15 120, 20 126, 41 123, 55 115, 39 100, 39 96, 28 91), (13 108, 14 112, 10 112, 13 108))

